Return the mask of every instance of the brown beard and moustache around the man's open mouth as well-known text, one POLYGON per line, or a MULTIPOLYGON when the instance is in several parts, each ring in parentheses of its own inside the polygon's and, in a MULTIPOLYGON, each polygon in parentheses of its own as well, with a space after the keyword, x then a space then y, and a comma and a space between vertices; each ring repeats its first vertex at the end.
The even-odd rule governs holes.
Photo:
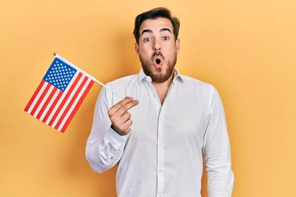
POLYGON ((140 62, 142 64, 144 73, 147 76, 150 76, 152 81, 155 83, 163 83, 167 81, 172 75, 175 65, 177 63, 177 53, 175 53, 175 55, 168 62, 165 61, 165 58, 163 57, 161 52, 158 52, 158 53, 154 52, 150 61, 142 58, 141 55, 139 56, 140 56, 140 62), (154 66, 153 58, 156 55, 160 55, 162 57, 163 66, 166 65, 166 67, 154 66), (162 73, 163 69, 165 69, 164 73, 162 73))

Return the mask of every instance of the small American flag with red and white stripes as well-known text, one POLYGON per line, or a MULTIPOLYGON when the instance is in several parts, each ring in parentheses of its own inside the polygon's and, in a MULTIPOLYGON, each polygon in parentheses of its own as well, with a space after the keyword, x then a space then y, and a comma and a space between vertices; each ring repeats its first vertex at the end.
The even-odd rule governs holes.
POLYGON ((93 84, 92 76, 56 55, 24 110, 65 132, 93 84))

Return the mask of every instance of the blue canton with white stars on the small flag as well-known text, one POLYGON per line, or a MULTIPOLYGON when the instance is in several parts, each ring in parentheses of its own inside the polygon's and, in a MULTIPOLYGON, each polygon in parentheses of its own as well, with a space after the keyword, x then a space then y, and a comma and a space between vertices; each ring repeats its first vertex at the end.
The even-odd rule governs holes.
POLYGON ((77 70, 74 67, 55 58, 44 75, 43 80, 57 87, 61 91, 65 91, 76 71, 77 70))

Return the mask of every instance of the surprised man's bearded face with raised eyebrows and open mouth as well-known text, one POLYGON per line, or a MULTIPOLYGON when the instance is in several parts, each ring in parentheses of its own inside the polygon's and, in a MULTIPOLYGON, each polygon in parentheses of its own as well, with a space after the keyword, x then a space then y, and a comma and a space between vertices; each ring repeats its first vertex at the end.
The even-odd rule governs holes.
POLYGON ((143 71, 155 83, 163 83, 172 75, 180 40, 175 42, 173 25, 169 19, 147 19, 140 27, 139 45, 135 49, 143 71))

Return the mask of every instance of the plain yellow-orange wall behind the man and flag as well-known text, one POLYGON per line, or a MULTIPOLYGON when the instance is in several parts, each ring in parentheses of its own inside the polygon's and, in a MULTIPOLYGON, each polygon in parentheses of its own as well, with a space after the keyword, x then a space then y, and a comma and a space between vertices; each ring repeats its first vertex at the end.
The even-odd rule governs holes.
POLYGON ((64 134, 23 110, 53 52, 103 83, 138 73, 134 18, 158 6, 181 20, 180 72, 221 94, 232 196, 296 197, 295 0, 1 0, 0 197, 115 197, 116 167, 84 155, 101 85, 64 134))

